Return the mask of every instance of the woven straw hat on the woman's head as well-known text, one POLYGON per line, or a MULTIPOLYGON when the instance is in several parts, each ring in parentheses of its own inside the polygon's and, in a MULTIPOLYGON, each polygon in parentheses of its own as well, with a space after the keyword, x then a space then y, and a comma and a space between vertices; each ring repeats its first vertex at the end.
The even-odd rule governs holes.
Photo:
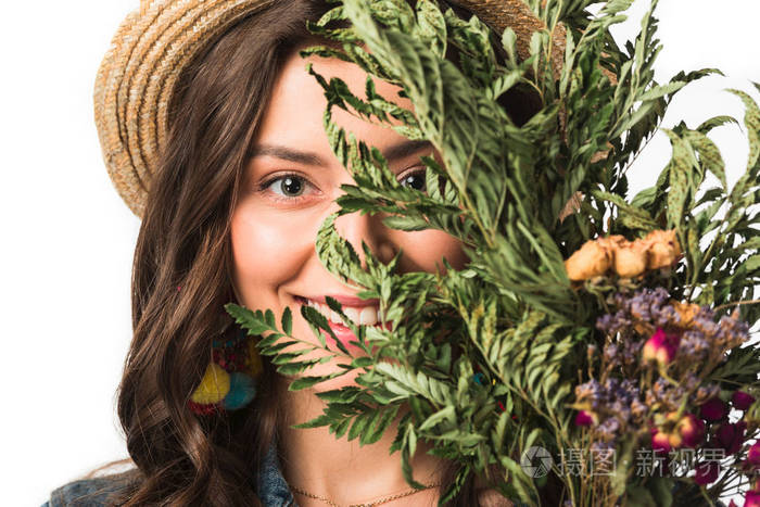
MULTIPOLYGON (((114 36, 98 71, 94 111, 109 175, 119 195, 142 217, 151 178, 168 131, 168 104, 182 68, 244 16, 277 0, 141 0, 114 36)), ((511 27, 518 53, 546 27, 523 0, 456 0, 499 33, 511 27)), ((553 48, 562 61, 563 35, 553 48)))

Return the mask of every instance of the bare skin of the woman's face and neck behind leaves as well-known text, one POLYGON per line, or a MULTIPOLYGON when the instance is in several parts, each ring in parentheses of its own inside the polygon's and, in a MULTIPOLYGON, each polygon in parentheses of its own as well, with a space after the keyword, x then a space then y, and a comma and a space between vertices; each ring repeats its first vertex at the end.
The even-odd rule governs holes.
MULTIPOLYGON (((366 81, 366 74, 350 63, 315 56, 307 63, 328 79, 340 77, 354 90, 360 90, 366 81)), ((397 91, 384 83, 377 84, 377 89, 388 97, 397 91)), ((325 310, 338 340, 358 355, 362 350, 351 343, 356 338, 341 324, 338 314, 325 305, 325 296, 341 303, 345 314, 360 324, 377 322, 377 302, 356 297, 357 290, 330 274, 319 262, 314 248, 322 221, 339 208, 335 199, 343 193, 340 186, 354 183, 332 153, 321 126, 326 106, 321 87, 305 71, 304 61, 293 52, 286 60, 273 88, 253 140, 253 156, 246 166, 245 183, 232 214, 233 281, 238 300, 249 308, 271 308, 280 319, 284 308, 290 307, 295 315, 292 335, 315 345, 318 341, 297 308, 311 304, 325 310)), ((425 165, 420 155, 431 154, 429 143, 408 141, 387 126, 370 124, 345 111, 337 113, 335 121, 383 152, 389 167, 403 185, 423 189, 425 165)), ((382 224, 382 218, 380 214, 352 213, 339 217, 335 227, 357 252, 362 252, 364 241, 382 262, 390 262, 402 250, 402 271, 441 270, 442 258, 456 268, 464 267, 466 256, 455 238, 438 230, 406 232, 390 229, 382 224)), ((327 339, 328 344, 333 345, 330 338, 327 339)), ((327 353, 315 351, 306 359, 319 357, 327 357, 327 353)), ((342 360, 350 362, 351 358, 342 360)), ((308 373, 339 371, 338 362, 330 360, 311 368, 308 373)), ((316 400, 315 391, 337 389, 353 383, 353 380, 352 376, 341 376, 321 382, 311 391, 290 392, 287 379, 275 378, 286 422, 278 426, 282 471, 293 491, 302 491, 301 505, 319 504, 303 492, 315 492, 344 504, 408 490, 401 474, 398 453, 388 456, 395 431, 387 431, 377 443, 359 449, 353 443, 335 440, 327 427, 290 429, 291 424, 309 421, 321 413, 324 404, 316 400), (329 460, 325 459, 327 456, 329 460), (340 478, 340 481, 334 478, 340 478)), ((415 472, 423 483, 440 484, 443 464, 423 453, 425 449, 421 446, 415 456, 415 472)), ((431 486, 415 494, 414 503, 431 504, 436 496, 436 487, 431 486)))

